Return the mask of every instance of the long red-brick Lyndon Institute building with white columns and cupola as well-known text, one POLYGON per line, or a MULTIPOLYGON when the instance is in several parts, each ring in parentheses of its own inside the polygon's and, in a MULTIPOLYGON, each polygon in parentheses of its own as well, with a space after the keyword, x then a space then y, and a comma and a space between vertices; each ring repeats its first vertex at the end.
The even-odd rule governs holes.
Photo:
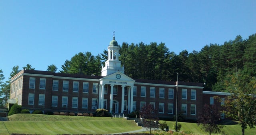
POLYGON ((212 102, 212 94, 222 95, 203 91, 202 83, 178 82, 177 87, 176 82, 130 78, 124 74, 118 51, 113 38, 101 76, 22 70, 10 82, 10 99, 31 112, 83 113, 105 108, 112 113, 130 113, 152 104, 159 117, 173 117, 177 96, 178 114, 196 119, 202 106, 212 102))

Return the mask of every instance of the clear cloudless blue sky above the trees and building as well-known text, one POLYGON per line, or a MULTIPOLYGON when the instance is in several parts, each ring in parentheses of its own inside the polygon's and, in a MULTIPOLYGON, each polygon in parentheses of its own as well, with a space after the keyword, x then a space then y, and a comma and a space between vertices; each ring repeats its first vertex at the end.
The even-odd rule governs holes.
POLYGON ((191 53, 256 33, 256 0, 0 0, 0 69, 62 70, 76 53, 102 53, 113 31, 120 45, 191 53))

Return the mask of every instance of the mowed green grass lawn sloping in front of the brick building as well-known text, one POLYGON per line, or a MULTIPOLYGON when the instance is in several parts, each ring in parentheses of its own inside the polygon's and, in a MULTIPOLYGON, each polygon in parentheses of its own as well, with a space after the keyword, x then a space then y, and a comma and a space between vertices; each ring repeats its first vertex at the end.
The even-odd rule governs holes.
MULTIPOLYGON (((10 121, 0 121, 0 135, 9 133, 26 134, 111 134, 141 129, 133 120, 110 117, 79 117, 40 114, 14 114, 10 121), (8 130, 7 130, 7 129, 8 130), (8 133, 9 131, 9 133, 8 133)), ((160 121, 162 123, 164 121, 160 121)), ((173 130, 174 121, 166 121, 173 130)), ((180 122, 181 131, 191 131, 193 134, 207 134, 200 130, 196 123, 180 122)), ((227 135, 240 135, 240 125, 225 125, 223 131, 227 135)), ((256 129, 245 130, 247 135, 255 135, 256 129)))

